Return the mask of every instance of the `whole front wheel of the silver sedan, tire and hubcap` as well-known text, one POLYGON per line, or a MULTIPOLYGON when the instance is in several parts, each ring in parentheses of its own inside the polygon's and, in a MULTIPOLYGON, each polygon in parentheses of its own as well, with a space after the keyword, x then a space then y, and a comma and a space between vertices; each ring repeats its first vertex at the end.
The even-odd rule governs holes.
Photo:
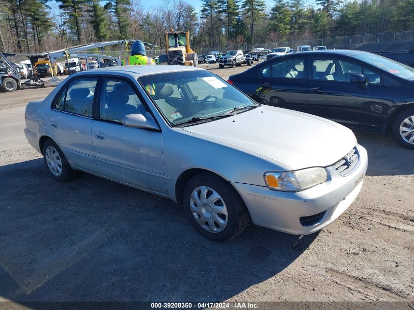
POLYGON ((250 215, 239 193, 228 182, 208 172, 195 175, 187 183, 184 188, 183 205, 195 230, 214 241, 236 238, 250 221, 250 215), (206 201, 213 194, 216 195, 216 199, 204 205, 203 193, 207 197, 206 201), (199 205, 195 197, 199 200, 199 205))

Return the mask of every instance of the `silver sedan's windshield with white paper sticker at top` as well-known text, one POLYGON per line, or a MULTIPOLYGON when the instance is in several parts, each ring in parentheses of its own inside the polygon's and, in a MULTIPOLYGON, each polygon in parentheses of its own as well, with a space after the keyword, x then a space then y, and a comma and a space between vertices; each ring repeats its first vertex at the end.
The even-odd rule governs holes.
POLYGON ((138 80, 173 126, 225 115, 236 107, 257 106, 236 88, 204 70, 146 75, 138 80))

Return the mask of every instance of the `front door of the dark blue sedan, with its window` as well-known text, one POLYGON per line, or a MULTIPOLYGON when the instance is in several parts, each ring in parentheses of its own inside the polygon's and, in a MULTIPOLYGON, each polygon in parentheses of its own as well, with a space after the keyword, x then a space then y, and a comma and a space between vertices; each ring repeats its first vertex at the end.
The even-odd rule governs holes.
POLYGON ((336 56, 312 57, 310 67, 309 113, 354 128, 375 130, 380 125, 380 74, 336 56), (352 74, 365 74, 367 84, 351 83, 352 74))

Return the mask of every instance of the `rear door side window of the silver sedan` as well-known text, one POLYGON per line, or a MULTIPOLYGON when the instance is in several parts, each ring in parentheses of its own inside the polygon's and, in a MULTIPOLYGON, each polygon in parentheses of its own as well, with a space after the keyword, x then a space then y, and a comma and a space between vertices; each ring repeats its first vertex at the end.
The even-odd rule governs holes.
POLYGON ((82 116, 92 117, 96 78, 76 79, 59 95, 55 109, 82 116))

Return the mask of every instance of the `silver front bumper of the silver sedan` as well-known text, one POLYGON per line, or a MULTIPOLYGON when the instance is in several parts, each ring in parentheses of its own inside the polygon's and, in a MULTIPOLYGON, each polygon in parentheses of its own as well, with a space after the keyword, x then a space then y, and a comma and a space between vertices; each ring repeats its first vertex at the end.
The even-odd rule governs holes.
POLYGON ((355 200, 363 185, 368 165, 364 147, 358 145, 360 163, 347 176, 328 167, 328 181, 299 191, 272 191, 265 186, 235 183, 254 224, 294 235, 317 232, 337 219, 355 200), (323 213, 310 226, 301 224, 301 217, 323 213))

